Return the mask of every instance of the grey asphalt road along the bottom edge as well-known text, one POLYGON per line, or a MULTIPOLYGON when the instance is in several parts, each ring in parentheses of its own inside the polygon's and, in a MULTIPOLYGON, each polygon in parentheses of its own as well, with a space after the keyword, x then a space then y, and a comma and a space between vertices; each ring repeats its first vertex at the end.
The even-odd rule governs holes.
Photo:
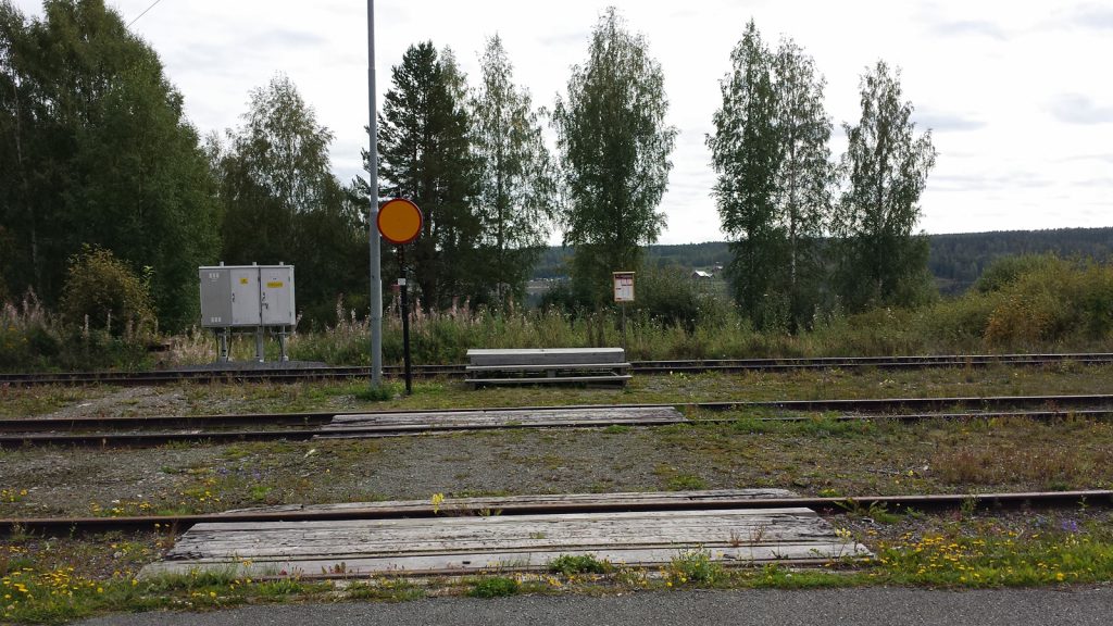
POLYGON ((86 626, 264 626, 328 624, 525 626, 1025 626, 1113 623, 1113 587, 933 591, 924 589, 641 593, 615 597, 439 598, 402 604, 254 606, 217 613, 102 617, 86 626))

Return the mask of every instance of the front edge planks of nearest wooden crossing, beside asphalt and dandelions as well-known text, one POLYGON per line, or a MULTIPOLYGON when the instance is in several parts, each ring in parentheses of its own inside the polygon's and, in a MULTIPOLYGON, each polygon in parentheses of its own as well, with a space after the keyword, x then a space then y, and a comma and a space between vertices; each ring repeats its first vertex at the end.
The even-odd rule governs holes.
POLYGON ((418 555, 411 557, 333 557, 321 555, 306 559, 238 559, 160 561, 146 566, 140 577, 191 571, 218 571, 239 577, 286 575, 318 575, 344 573, 370 574, 447 574, 463 575, 482 571, 540 570, 563 555, 592 555, 615 565, 642 567, 664 566, 672 559, 693 550, 706 550, 709 557, 725 565, 761 565, 766 563, 811 563, 838 558, 870 556, 860 544, 827 541, 809 544, 781 544, 776 546, 674 546, 670 548, 639 549, 608 547, 598 550, 538 550, 518 552, 480 551, 469 555, 418 555))

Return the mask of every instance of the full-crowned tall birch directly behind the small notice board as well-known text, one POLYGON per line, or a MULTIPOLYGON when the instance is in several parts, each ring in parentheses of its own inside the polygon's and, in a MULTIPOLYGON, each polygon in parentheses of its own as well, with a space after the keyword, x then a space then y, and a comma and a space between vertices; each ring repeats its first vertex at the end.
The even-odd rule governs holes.
POLYGON ((649 43, 609 8, 553 114, 564 243, 575 246, 572 278, 582 297, 602 302, 610 273, 636 268, 641 246, 656 242, 664 226, 658 205, 677 136, 664 119, 668 106, 649 43))

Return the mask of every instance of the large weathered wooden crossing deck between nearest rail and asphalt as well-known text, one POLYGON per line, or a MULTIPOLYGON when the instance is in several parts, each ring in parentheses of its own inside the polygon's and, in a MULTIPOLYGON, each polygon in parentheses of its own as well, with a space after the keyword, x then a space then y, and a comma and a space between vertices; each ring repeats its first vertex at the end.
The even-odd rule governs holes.
POLYGON ((805 508, 224 522, 196 525, 141 575, 463 574, 572 554, 656 566, 693 549, 727 564, 868 555, 805 508))

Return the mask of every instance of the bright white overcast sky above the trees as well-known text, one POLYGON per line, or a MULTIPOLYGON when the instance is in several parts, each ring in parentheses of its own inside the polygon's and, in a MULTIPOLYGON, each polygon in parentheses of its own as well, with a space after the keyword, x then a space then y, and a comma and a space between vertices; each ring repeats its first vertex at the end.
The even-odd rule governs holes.
MULTIPOLYGON (((131 21, 154 0, 109 1, 131 21)), ((40 14, 37 0, 17 0, 40 14)), ((836 126, 859 115, 858 81, 877 59, 903 69, 918 129, 939 151, 922 197, 928 233, 1113 226, 1113 2, 996 0, 377 0, 378 102, 411 43, 450 46, 474 85, 498 32, 535 105, 564 92, 602 10, 617 6, 664 71, 680 130, 661 243, 725 238, 705 136, 719 80, 751 17, 787 36, 827 79, 836 126)), ((132 31, 158 51, 205 134, 239 124, 248 92, 285 72, 335 135, 342 179, 367 143, 367 17, 359 0, 160 0, 132 31)), ((559 242, 559 234, 554 236, 559 242)))

